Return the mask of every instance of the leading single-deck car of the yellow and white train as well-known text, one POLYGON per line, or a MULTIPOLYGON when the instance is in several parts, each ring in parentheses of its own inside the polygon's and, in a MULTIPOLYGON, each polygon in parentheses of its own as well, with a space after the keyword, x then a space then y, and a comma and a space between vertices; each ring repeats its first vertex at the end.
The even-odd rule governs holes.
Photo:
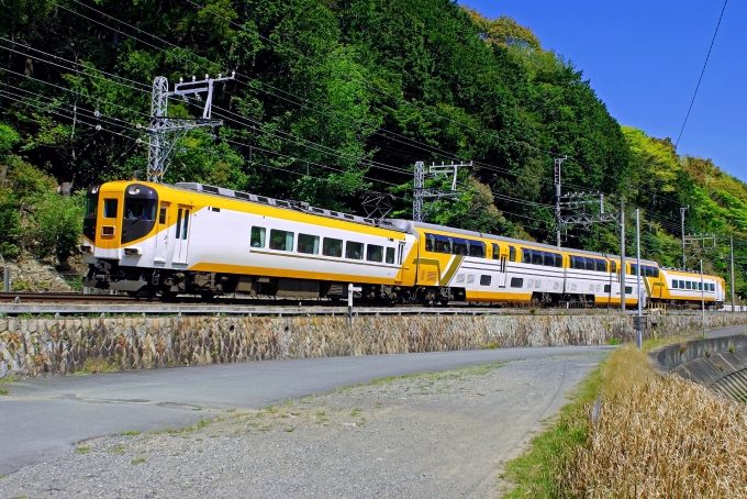
POLYGON ((194 182, 104 184, 97 206, 85 286, 399 301, 414 284, 415 237, 388 221, 194 182))

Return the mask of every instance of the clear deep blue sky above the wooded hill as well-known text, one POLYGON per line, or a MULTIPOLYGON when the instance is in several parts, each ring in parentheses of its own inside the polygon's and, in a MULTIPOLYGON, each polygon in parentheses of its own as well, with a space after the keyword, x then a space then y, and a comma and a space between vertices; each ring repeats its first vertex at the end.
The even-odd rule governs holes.
MULTIPOLYGON (((677 141, 722 0, 458 0, 570 59, 621 124, 677 141)), ((678 147, 747 181, 747 2, 727 3, 678 147)))

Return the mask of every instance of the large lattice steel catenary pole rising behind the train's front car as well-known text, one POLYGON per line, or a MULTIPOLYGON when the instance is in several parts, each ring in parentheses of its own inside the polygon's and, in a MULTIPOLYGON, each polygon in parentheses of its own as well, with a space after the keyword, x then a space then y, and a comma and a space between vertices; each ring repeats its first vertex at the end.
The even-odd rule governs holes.
POLYGON ((164 181, 164 174, 168 168, 168 158, 176 145, 177 141, 188 130, 202 126, 220 126, 223 124, 221 120, 211 120, 212 102, 213 102, 213 86, 219 81, 226 81, 234 78, 231 76, 218 75, 218 78, 210 78, 205 75, 204 80, 196 80, 183 82, 181 79, 174 86, 174 91, 168 89, 168 79, 164 76, 157 76, 153 81, 153 93, 150 95, 150 125, 147 129, 149 133, 148 138, 148 170, 147 180, 152 182, 164 181), (205 98, 205 107, 202 112, 202 118, 168 118, 168 98, 170 96, 181 96, 187 99, 188 96, 197 96, 200 93, 208 93, 205 98))

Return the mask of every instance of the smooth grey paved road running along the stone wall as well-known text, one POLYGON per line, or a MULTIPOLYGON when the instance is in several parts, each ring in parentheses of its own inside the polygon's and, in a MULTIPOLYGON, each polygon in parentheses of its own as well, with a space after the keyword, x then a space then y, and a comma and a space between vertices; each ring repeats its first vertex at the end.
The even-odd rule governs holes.
POLYGON ((69 452, 86 439, 194 424, 212 409, 260 409, 386 376, 609 346, 526 347, 371 355, 27 379, 0 398, 0 474, 69 452), (202 410, 196 410, 202 409, 202 410))

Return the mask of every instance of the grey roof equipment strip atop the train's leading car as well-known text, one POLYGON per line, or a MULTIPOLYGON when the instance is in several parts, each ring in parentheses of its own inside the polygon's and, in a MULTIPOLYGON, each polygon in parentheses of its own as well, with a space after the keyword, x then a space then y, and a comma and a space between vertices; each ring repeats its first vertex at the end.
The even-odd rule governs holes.
POLYGON ((310 206, 304 201, 291 201, 269 198, 267 196, 257 196, 249 192, 242 192, 238 190, 226 189, 224 187, 208 186, 199 182, 177 182, 170 185, 170 187, 176 189, 192 190, 203 195, 220 196, 223 198, 231 198, 236 201, 253 202, 258 204, 270 206, 275 208, 282 208, 287 210, 302 211, 316 217, 325 217, 334 220, 343 220, 346 222, 360 223, 364 225, 376 226, 379 229, 388 229, 391 231, 405 232, 398 225, 393 224, 387 219, 372 219, 366 217, 359 217, 349 213, 343 213, 335 210, 326 210, 324 208, 316 208, 310 206))

